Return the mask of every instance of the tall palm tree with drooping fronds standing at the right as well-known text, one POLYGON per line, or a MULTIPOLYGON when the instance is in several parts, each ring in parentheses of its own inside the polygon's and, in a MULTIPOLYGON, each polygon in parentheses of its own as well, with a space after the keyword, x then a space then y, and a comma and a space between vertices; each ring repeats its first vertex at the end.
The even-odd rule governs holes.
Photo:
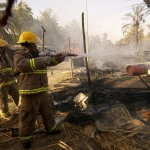
POLYGON ((136 7, 132 7, 132 10, 133 12, 125 14, 123 18, 129 22, 123 25, 122 32, 123 35, 128 33, 128 38, 129 36, 134 37, 135 48, 137 48, 139 43, 139 29, 141 29, 140 27, 145 23, 148 12, 145 11, 145 5, 136 5, 136 7))

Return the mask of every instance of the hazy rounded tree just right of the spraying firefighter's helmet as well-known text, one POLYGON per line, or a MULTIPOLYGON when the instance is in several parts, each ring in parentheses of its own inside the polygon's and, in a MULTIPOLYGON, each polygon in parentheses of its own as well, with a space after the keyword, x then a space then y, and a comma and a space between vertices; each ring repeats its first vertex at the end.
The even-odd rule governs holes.
POLYGON ((41 39, 42 27, 46 29, 45 45, 58 46, 64 41, 62 27, 58 25, 57 16, 53 15, 51 9, 41 12, 41 16, 34 19, 32 31, 35 32, 41 39))

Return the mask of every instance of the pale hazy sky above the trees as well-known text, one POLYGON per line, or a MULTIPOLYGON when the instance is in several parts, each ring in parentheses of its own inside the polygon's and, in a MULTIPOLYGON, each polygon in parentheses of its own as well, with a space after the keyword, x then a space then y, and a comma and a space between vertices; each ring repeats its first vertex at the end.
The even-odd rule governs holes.
MULTIPOLYGON (((20 2, 20 0, 17 0, 20 2)), ((121 27, 125 20, 124 14, 131 11, 131 6, 143 3, 143 0, 23 0, 32 8, 34 17, 40 15, 40 11, 48 8, 58 17, 59 25, 66 25, 71 20, 77 20, 81 24, 82 12, 85 14, 85 26, 88 34, 100 35, 106 32, 108 39, 113 42, 122 38, 121 27), (86 7, 87 2, 87 7, 86 7), (88 11, 86 11, 86 8, 88 11), (87 13, 88 12, 88 13, 87 13)), ((150 23, 150 21, 149 21, 150 23)), ((82 24, 81 24, 82 26, 82 24)), ((148 30, 148 29, 147 29, 148 30)), ((148 32, 148 31, 147 31, 148 32)))

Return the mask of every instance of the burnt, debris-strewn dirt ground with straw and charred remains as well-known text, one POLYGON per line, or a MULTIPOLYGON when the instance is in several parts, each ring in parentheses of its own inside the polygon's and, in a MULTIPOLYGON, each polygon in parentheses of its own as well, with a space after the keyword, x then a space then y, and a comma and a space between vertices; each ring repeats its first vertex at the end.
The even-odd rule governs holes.
MULTIPOLYGON (((150 77, 142 76, 145 85, 139 77, 90 68, 90 86, 85 68, 74 70, 71 77, 69 65, 64 62, 58 68, 48 69, 49 96, 54 101, 56 116, 68 114, 59 125, 62 132, 45 134, 38 116, 30 149, 150 149, 150 77), (88 96, 85 110, 73 102, 79 93, 88 96)), ((11 99, 9 107, 13 113, 11 99)), ((18 115, 10 121, 0 119, 0 150, 23 149, 18 137, 12 137, 15 131, 10 128, 18 128, 18 115)))

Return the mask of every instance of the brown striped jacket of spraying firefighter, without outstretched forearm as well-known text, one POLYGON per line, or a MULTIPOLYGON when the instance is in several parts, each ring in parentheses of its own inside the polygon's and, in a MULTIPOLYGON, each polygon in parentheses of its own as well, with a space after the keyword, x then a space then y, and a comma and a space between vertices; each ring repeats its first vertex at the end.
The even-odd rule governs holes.
POLYGON ((19 94, 31 95, 48 91, 47 66, 42 57, 32 58, 20 50, 14 54, 14 65, 21 72, 18 77, 19 94))

